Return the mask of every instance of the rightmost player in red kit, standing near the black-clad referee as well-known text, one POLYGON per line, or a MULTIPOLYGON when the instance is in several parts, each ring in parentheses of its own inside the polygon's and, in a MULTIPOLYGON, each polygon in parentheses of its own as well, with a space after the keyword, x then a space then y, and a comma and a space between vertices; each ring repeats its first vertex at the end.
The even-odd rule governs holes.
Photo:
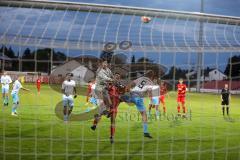
POLYGON ((177 85, 177 90, 178 90, 177 110, 178 110, 178 114, 180 115, 181 106, 182 106, 183 113, 184 114, 186 113, 185 97, 186 97, 186 92, 187 92, 187 86, 185 84, 183 84, 182 78, 180 78, 178 82, 179 83, 177 85))

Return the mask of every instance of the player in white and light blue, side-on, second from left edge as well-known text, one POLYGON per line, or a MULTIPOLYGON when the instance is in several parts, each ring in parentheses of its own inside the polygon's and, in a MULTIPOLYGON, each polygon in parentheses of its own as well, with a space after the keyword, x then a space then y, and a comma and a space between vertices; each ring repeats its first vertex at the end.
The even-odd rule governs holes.
POLYGON ((13 100, 12 116, 17 116, 17 108, 19 105, 19 96, 18 96, 19 90, 23 89, 23 90, 29 91, 29 89, 26 89, 22 86, 20 80, 21 78, 18 77, 17 80, 13 83, 13 89, 11 92, 12 100, 13 100))

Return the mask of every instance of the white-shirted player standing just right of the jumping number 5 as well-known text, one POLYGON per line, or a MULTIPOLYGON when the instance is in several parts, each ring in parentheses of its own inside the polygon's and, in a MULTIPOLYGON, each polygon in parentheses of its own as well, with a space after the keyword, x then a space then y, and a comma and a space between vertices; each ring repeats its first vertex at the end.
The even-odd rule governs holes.
POLYGON ((159 97, 160 97, 160 86, 157 78, 153 80, 153 85, 151 86, 151 90, 149 92, 149 110, 148 115, 151 116, 151 109, 156 108, 156 118, 159 119, 159 97))

